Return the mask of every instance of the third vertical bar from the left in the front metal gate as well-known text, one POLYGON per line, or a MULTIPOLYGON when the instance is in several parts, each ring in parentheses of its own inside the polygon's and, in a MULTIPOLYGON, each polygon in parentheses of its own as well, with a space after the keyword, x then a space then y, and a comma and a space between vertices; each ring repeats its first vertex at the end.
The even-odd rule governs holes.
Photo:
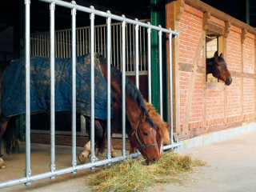
MULTIPOLYGON (((72 1, 73 4, 76 4, 72 1)), ((72 16, 72 166, 75 168, 77 166, 76 161, 76 8, 71 10, 72 16)), ((73 172, 75 174, 75 171, 73 172)))

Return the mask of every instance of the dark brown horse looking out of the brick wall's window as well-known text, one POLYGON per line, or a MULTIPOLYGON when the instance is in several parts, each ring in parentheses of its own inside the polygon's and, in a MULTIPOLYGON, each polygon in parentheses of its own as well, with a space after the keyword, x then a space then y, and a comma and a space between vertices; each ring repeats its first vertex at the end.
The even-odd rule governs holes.
POLYGON ((226 86, 232 82, 230 71, 227 69, 223 54, 218 56, 218 51, 214 53, 213 58, 206 58, 206 75, 213 74, 214 78, 221 79, 226 86))

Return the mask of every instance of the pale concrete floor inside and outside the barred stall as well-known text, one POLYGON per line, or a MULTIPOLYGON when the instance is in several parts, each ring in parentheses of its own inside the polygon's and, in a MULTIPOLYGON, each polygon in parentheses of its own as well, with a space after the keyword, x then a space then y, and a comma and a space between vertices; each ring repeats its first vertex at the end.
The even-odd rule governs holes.
MULTIPOLYGON (((193 158, 200 158, 210 166, 197 168, 193 178, 195 182, 185 182, 184 186, 173 184, 155 186, 148 191, 256 191, 256 131, 183 151, 193 158)), ((78 147, 77 153, 82 150, 78 147)), ((120 150, 117 150, 121 154, 120 150)), ((71 149, 69 146, 56 146, 56 169, 70 166, 71 149)), ((4 155, 6 169, 0 170, 0 182, 22 178, 25 167, 24 144, 20 154, 12 157, 4 155)), ((32 174, 39 174, 50 169, 50 146, 33 144, 31 147, 32 174)), ((105 158, 100 156, 99 158, 105 158)), ((79 164, 80 162, 78 162, 79 164)), ((100 168, 96 168, 99 170, 100 168)), ((53 181, 50 178, 32 182, 31 186, 11 186, 2 191, 91 191, 86 186, 86 178, 90 178, 91 170, 78 171, 76 175, 59 175, 53 181), (86 175, 86 176, 85 176, 86 175)))

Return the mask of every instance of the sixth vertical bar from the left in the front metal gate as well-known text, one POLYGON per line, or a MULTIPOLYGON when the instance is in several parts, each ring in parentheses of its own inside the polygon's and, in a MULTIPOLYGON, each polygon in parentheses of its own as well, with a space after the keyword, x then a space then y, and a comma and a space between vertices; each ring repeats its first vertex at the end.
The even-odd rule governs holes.
MULTIPOLYGON (((124 15, 122 15, 125 18, 124 15)), ((126 22, 122 22, 122 156, 126 156, 126 22)))

